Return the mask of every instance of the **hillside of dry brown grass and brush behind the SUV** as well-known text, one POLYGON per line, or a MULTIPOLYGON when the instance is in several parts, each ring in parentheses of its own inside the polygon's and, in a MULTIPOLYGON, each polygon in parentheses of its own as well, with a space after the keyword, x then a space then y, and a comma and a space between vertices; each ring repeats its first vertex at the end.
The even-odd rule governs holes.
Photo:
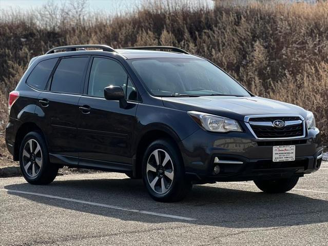
MULTIPOLYGON (((148 1, 132 13, 86 12, 85 1, 0 15, 0 133, 7 98, 33 56, 54 46, 177 46, 213 60, 254 94, 314 112, 328 143, 328 3, 259 1, 215 8, 148 1)), ((0 136, 0 153, 4 141, 0 136)))

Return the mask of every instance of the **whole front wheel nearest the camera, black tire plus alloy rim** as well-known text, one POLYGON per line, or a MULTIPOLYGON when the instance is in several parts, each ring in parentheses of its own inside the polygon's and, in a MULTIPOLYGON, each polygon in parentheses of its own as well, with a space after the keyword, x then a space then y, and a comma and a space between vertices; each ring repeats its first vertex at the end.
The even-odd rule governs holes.
POLYGON ((170 139, 152 142, 145 151, 142 164, 144 184, 156 201, 182 200, 192 187, 190 180, 185 177, 178 147, 170 139))

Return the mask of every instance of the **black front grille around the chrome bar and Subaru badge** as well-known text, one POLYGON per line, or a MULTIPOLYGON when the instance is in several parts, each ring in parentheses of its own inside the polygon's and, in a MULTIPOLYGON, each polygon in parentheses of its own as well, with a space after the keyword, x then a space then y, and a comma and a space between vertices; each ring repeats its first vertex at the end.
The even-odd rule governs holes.
MULTIPOLYGON (((281 117, 260 117, 260 118, 250 118, 249 121, 252 122, 274 122, 280 119, 284 122, 301 120, 298 116, 281 116, 281 117)), ((284 126, 282 128, 277 128, 274 126, 257 126, 250 125, 253 132, 258 138, 286 138, 286 137, 300 137, 303 135, 303 122, 297 125, 284 126)))

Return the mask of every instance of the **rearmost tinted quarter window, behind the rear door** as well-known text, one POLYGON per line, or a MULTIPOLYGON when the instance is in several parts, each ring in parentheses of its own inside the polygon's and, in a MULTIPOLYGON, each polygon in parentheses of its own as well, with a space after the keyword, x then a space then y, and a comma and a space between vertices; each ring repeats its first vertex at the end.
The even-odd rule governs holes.
POLYGON ((58 58, 43 60, 36 65, 26 80, 26 84, 38 89, 44 90, 58 58))

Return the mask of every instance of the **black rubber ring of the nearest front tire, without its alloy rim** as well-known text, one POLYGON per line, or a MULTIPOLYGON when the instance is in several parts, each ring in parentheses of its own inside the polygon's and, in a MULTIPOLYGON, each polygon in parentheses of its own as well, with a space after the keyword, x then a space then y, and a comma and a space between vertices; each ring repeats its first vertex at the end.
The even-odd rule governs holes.
POLYGON ((185 174, 184 174, 184 166, 182 162, 182 158, 180 156, 180 153, 176 150, 175 144, 170 141, 169 139, 159 139, 152 144, 150 144, 145 151, 143 161, 142 161, 142 174, 143 174, 143 182, 150 194, 150 196, 158 201, 171 201, 175 200, 175 197, 177 195, 177 192, 179 192, 179 189, 181 186, 184 185, 185 180, 185 174), (147 174, 146 174, 146 167, 147 167, 147 161, 150 156, 150 154, 156 150, 156 149, 162 149, 166 151, 172 160, 172 165, 174 169, 174 177, 171 184, 171 187, 169 188, 169 191, 164 194, 159 194, 153 191, 149 185, 147 174))

